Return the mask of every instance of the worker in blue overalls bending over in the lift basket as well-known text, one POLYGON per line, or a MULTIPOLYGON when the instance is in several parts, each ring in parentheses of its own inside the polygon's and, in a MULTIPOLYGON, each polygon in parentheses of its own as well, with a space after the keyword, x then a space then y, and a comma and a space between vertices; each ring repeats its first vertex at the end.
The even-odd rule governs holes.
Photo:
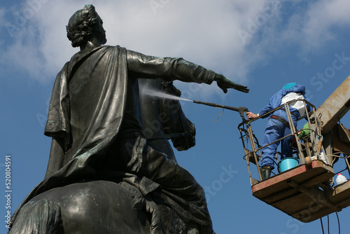
MULTIPOLYGON (((290 114, 293 119, 293 125, 297 127, 297 118, 303 116, 305 114, 306 108, 307 111, 311 111, 311 106, 304 105, 304 102, 297 101, 300 99, 306 99, 305 96, 305 86, 299 85, 297 83, 287 83, 283 86, 279 92, 276 92, 271 99, 269 100, 269 104, 265 106, 258 114, 247 112, 246 116, 251 118, 257 118, 258 116, 262 116, 263 114, 272 111, 273 109, 286 104, 292 100, 296 100, 289 104, 290 114)), ((281 159, 286 157, 292 157, 292 149, 290 148, 290 142, 292 140, 292 136, 286 137, 281 141, 275 142, 277 139, 281 139, 286 135, 290 135, 290 125, 288 123, 287 113, 284 108, 278 109, 269 115, 263 116, 262 118, 267 118, 269 116, 269 121, 267 122, 267 126, 265 129, 264 137, 262 139, 262 146, 270 144, 274 142, 274 144, 270 144, 262 149, 262 161, 260 172, 262 176, 262 180, 269 178, 271 174, 271 170, 274 169, 274 156, 276 155, 276 149, 279 146, 279 142, 281 143, 281 159)))

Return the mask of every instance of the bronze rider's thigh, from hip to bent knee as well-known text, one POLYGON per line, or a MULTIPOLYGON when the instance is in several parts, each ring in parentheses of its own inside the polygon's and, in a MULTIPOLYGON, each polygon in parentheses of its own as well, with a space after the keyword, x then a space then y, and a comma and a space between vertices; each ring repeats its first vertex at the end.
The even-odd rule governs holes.
MULTIPOLYGON (((111 147, 109 157, 106 158, 108 167, 113 167, 113 170, 127 171, 132 174, 137 174, 141 177, 148 177, 160 184, 163 188, 174 188, 174 193, 188 193, 188 195, 197 195, 204 198, 204 191, 197 183, 195 178, 181 167, 176 161, 167 157, 165 152, 158 152, 148 146, 146 141, 136 138, 116 141, 116 144, 111 147), (136 151, 134 149, 137 149, 136 151), (112 153, 113 152, 113 155, 112 153), (142 162, 139 170, 134 171, 134 164, 130 164, 134 158, 139 156, 132 155, 133 153, 142 152, 142 162), (113 166, 112 166, 113 165, 113 166), (183 190, 179 190, 183 188, 183 190)), ((139 159, 138 159, 139 160, 139 159)))

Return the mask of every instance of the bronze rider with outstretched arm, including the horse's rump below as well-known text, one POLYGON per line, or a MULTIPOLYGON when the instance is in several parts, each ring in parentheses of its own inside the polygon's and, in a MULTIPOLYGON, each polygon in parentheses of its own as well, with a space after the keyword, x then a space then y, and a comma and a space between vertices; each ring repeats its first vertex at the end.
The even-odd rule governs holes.
POLYGON ((182 58, 102 46, 102 23, 92 5, 69 19, 67 36, 80 52, 52 89, 48 170, 9 233, 213 233, 202 187, 147 144, 137 78, 248 89, 182 58))

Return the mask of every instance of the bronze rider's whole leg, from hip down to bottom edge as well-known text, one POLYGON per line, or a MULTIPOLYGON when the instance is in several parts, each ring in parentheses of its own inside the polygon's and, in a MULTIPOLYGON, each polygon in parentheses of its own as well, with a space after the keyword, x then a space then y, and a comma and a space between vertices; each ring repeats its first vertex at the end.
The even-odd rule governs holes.
POLYGON ((167 198, 181 207, 180 213, 183 214, 180 215, 186 222, 194 221, 202 226, 205 229, 201 232, 203 234, 212 233, 204 190, 190 172, 139 138, 116 141, 113 156, 109 157, 109 166, 113 165, 115 170, 130 172, 140 178, 147 177, 160 184, 167 198), (135 171, 134 165, 140 163, 137 162, 140 156, 135 156, 133 153, 140 152, 142 152, 142 166, 135 171), (138 159, 135 161, 135 158, 138 159), (130 163, 132 160, 134 163, 130 163))

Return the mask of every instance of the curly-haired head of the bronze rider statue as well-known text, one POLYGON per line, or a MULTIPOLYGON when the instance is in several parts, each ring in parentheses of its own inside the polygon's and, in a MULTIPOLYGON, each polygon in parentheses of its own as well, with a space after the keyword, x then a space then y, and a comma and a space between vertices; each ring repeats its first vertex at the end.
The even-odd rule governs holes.
POLYGON ((102 25, 102 19, 95 11, 94 6, 85 5, 69 19, 66 26, 66 36, 73 47, 84 46, 92 36, 97 36, 101 44, 104 45, 107 39, 106 31, 102 25))

